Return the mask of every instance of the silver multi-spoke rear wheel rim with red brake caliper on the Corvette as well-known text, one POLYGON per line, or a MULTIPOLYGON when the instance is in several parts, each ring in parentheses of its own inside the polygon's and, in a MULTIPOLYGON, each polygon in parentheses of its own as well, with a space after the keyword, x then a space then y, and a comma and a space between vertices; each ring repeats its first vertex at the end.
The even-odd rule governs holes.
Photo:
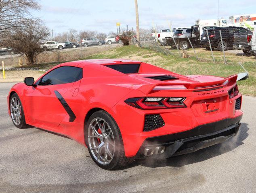
POLYGON ((102 118, 92 119, 88 127, 88 148, 94 159, 103 165, 111 162, 115 152, 115 140, 109 124, 102 118))

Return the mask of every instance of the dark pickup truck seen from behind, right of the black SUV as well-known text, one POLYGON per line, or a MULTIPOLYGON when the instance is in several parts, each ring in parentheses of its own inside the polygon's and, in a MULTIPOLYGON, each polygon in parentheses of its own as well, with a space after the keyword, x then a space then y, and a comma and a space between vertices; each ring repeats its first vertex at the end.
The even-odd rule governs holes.
POLYGON ((252 51, 252 32, 245 28, 235 31, 233 48, 243 50, 246 55, 255 55, 252 51))

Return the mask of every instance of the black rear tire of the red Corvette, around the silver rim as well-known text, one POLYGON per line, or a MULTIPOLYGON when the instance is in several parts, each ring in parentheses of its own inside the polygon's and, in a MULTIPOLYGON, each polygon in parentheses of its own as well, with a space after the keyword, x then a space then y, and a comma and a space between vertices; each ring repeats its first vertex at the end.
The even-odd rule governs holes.
POLYGON ((117 123, 115 122, 115 120, 113 119, 113 117, 111 115, 109 115, 109 113, 107 113, 106 111, 97 111, 97 112, 93 113, 90 116, 90 118, 88 119, 88 121, 85 125, 84 138, 85 138, 85 143, 86 143, 86 146, 88 147, 88 151, 90 153, 90 156, 91 156, 92 160, 99 167, 101 167, 105 170, 115 170, 115 169, 118 169, 120 167, 124 167, 124 166, 130 164, 133 161, 133 159, 131 159, 131 158, 126 158, 126 156, 124 154, 124 144, 123 144, 123 139, 122 139, 120 129, 119 129, 117 123), (90 125, 90 122, 93 121, 93 119, 95 119, 95 118, 104 119, 104 121, 106 121, 107 124, 111 127, 115 147, 118 147, 118 148, 115 148, 114 153, 113 153, 113 158, 109 162, 109 164, 99 163, 97 161, 97 159, 94 158, 94 156, 92 154, 92 150, 90 150, 90 147, 89 147, 89 144, 88 144, 89 125, 90 125))

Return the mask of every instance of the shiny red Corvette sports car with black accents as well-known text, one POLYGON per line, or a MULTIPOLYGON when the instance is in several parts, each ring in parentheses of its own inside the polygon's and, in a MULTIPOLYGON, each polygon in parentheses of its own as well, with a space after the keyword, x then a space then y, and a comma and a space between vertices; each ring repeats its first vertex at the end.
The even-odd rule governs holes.
POLYGON ((182 76, 132 60, 59 64, 8 94, 9 115, 88 147, 101 168, 169 158, 234 136, 243 112, 237 75, 182 76))

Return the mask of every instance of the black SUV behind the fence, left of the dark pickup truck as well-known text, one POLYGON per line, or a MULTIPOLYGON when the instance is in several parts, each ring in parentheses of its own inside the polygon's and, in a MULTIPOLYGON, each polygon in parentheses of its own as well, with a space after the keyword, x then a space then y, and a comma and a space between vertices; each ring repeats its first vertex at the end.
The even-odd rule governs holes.
MULTIPOLYGON (((219 27, 214 29, 208 29, 208 35, 212 49, 217 48, 218 51, 222 51, 222 43, 220 40, 220 31, 222 35, 222 42, 224 50, 233 48, 234 33, 237 31, 244 30, 243 27, 219 27)), ((201 46, 206 49, 210 49, 208 36, 206 30, 201 35, 201 46)))

